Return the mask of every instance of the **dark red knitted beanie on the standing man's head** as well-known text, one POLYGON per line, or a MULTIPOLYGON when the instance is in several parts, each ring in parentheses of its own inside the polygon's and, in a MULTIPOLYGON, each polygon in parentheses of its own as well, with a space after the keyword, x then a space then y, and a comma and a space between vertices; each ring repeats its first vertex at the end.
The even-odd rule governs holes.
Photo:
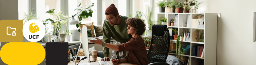
POLYGON ((111 4, 110 6, 108 6, 108 8, 105 11, 105 14, 119 15, 118 10, 114 4, 111 4))

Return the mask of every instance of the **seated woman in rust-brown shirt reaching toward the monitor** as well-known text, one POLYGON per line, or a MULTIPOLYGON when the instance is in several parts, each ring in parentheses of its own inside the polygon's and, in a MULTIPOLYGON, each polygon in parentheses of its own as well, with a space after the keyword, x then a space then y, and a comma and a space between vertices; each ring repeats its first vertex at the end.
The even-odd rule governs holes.
POLYGON ((113 58, 111 61, 113 64, 121 62, 130 62, 132 64, 146 65, 149 64, 147 59, 147 51, 143 38, 140 36, 144 33, 146 24, 140 18, 128 18, 126 20, 128 25, 127 31, 128 34, 131 34, 133 38, 130 41, 123 44, 109 44, 105 43, 102 40, 90 40, 90 42, 108 47, 117 51, 127 51, 127 55, 121 59, 113 58), (105 45, 104 45, 105 44, 105 45))

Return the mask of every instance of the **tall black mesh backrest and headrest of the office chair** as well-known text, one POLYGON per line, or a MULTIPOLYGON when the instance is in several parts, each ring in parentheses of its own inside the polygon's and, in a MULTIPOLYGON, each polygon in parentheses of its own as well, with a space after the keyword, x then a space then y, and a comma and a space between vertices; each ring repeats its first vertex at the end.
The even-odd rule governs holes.
POLYGON ((169 65, 166 62, 170 47, 167 25, 152 25, 152 39, 148 51, 148 65, 169 65))

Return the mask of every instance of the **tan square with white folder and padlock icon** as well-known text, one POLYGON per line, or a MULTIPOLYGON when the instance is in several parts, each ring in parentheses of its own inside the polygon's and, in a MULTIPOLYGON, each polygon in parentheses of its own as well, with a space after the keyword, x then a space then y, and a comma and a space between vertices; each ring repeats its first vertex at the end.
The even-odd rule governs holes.
POLYGON ((0 21, 0 42, 22 42, 22 20, 0 21))

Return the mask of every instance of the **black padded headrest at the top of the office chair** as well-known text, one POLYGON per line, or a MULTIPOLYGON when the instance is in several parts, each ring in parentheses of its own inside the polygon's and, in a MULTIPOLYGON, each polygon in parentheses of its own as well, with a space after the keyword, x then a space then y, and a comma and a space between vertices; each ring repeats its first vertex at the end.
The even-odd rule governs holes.
POLYGON ((152 33, 156 36, 164 35, 164 31, 167 30, 167 25, 152 25, 152 33))

